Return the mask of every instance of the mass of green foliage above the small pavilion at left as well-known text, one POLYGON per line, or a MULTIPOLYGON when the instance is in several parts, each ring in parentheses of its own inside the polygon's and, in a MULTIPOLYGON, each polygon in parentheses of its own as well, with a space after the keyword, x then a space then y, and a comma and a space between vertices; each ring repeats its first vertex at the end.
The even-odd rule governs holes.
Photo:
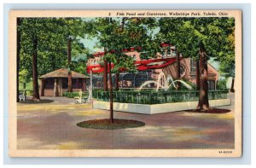
POLYGON ((67 67, 67 39, 72 38, 72 67, 84 73, 80 60, 87 60, 88 49, 80 38, 89 32, 87 26, 80 18, 20 18, 20 71, 26 70, 27 77, 32 77, 35 38, 38 39, 38 75, 67 67))

